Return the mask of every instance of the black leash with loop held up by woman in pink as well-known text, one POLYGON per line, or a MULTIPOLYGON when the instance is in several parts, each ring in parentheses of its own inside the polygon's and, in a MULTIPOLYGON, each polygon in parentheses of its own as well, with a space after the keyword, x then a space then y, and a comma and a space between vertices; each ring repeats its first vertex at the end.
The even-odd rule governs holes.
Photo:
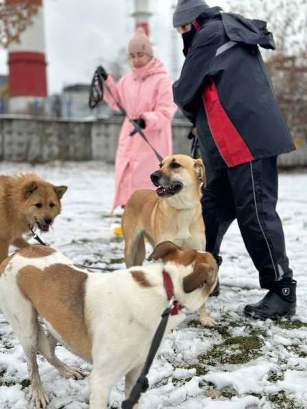
POLYGON ((159 163, 161 163, 162 160, 163 160, 162 156, 151 145, 149 140, 146 138, 142 128, 138 125, 138 123, 136 123, 136 121, 131 119, 127 115, 127 112, 121 106, 119 101, 116 101, 116 99, 114 98, 114 95, 112 94, 112 91, 110 90, 110 87, 108 86, 108 84, 106 84, 105 80, 103 79, 101 71, 102 71, 102 67, 99 65, 97 67, 95 73, 94 73, 92 84, 90 85, 90 100, 88 102, 88 105, 90 106, 90 109, 93 110, 93 108, 95 108, 99 104, 99 102, 103 99, 103 86, 105 86, 106 90, 108 90, 108 92, 111 95, 112 99, 116 103, 117 108, 119 108, 119 110, 121 111, 121 114, 123 116, 127 116, 127 119, 129 119, 130 123, 132 123, 132 125, 134 126, 134 130, 136 132, 138 132, 138 134, 140 134, 140 136, 142 136, 142 138, 145 140, 145 142, 147 142, 149 147, 151 147, 151 149, 153 150, 153 153, 156 155, 156 158, 158 159, 159 163))

